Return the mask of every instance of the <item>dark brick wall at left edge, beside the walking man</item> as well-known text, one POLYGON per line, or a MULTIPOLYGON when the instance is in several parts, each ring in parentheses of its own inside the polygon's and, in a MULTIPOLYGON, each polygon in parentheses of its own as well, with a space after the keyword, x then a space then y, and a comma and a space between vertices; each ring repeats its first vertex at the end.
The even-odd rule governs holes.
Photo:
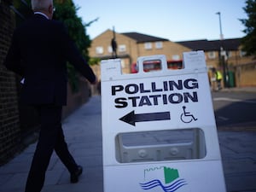
POLYGON ((15 28, 15 15, 9 1, 0 3, 0 165, 9 160, 17 150, 20 139, 20 120, 15 74, 3 67, 15 28))

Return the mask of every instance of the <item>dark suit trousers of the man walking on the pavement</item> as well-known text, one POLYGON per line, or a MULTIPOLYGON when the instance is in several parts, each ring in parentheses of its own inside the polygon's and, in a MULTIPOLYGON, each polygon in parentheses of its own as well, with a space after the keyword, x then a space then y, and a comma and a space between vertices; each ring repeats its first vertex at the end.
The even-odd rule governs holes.
POLYGON ((69 153, 61 127, 62 106, 37 106, 41 130, 38 145, 32 159, 32 165, 26 181, 26 192, 40 192, 53 150, 59 156, 69 172, 75 172, 77 164, 69 153))

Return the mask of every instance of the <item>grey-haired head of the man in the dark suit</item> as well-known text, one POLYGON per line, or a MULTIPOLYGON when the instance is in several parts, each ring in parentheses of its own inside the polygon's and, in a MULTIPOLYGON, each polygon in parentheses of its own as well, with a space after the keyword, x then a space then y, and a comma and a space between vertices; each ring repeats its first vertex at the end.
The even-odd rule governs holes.
POLYGON ((31 0, 32 10, 40 11, 52 19, 54 13, 53 0, 31 0))

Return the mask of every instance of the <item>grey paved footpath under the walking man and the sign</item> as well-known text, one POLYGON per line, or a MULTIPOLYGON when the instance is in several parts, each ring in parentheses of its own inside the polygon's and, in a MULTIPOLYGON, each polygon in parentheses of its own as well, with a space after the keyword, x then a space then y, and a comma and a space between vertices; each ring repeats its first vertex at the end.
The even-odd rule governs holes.
MULTIPOLYGON (((69 173, 54 154, 42 192, 103 191, 101 113, 101 97, 93 96, 63 121, 68 146, 84 172, 79 183, 69 183, 69 173)), ((218 131, 218 137, 227 191, 256 191, 256 131, 218 131)), ((24 191, 35 146, 0 167, 0 192, 24 191)))

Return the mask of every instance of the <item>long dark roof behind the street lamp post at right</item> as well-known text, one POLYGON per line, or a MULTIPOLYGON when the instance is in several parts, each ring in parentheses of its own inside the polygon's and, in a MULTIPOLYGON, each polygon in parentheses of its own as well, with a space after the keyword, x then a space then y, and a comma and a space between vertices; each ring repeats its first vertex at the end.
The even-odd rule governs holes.
POLYGON ((177 44, 182 44, 185 47, 193 50, 205 50, 212 51, 218 50, 220 47, 223 47, 224 50, 238 50, 241 44, 241 38, 230 38, 224 40, 212 40, 208 41, 207 39, 194 40, 194 41, 181 41, 175 42, 177 44))

